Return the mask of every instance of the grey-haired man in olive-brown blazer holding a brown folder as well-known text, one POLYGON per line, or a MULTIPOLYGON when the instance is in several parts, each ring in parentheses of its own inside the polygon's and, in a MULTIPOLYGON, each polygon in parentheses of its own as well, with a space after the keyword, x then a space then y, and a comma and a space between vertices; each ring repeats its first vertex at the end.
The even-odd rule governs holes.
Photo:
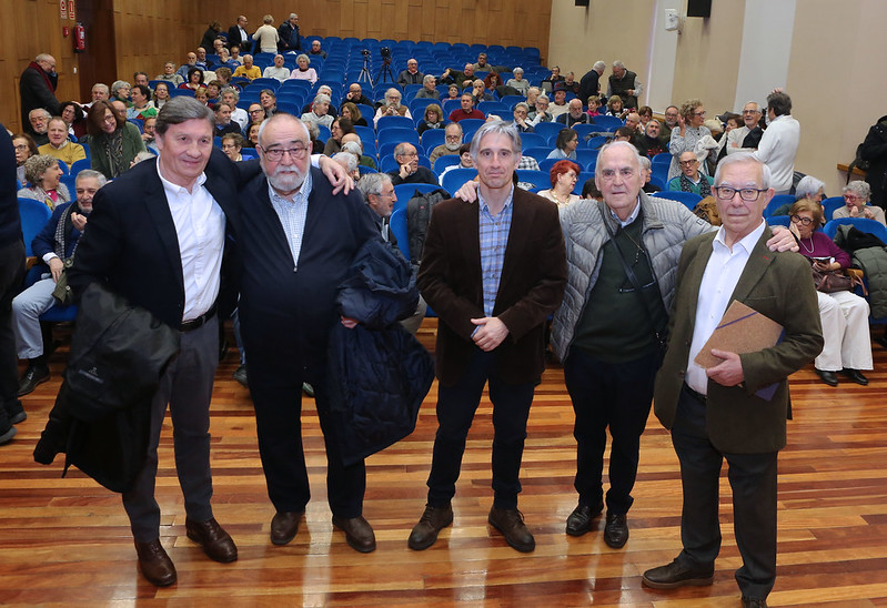
POLYGON ((776 580, 776 460, 786 443, 787 377, 814 359, 823 335, 809 264, 765 245, 770 231, 762 213, 773 197, 766 165, 748 154, 727 156, 713 190, 724 224, 684 246, 654 393, 656 416, 672 430, 681 460, 684 550, 644 572, 643 582, 657 589, 712 584, 726 458, 743 558, 736 580, 744 606, 766 606, 776 580), (704 369, 695 358, 734 300, 783 325, 785 334, 762 351, 712 349, 723 361, 704 369))

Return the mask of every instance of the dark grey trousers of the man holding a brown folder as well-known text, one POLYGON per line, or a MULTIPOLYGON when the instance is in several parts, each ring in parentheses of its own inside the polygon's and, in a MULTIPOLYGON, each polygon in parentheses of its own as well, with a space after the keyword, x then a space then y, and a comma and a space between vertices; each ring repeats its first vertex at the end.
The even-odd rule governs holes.
POLYGON ((720 549, 718 480, 726 458, 733 490, 736 545, 743 566, 736 581, 743 595, 766 598, 776 580, 776 452, 724 454, 708 440, 705 403, 686 387, 677 402, 672 443, 681 460, 684 510, 678 560, 692 567, 714 564, 720 549))

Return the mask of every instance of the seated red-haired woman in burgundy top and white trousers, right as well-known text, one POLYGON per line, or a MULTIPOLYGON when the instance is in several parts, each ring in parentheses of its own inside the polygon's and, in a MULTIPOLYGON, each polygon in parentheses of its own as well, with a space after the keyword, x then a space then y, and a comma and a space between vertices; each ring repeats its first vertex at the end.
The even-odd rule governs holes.
MULTIPOLYGON (((831 239, 819 232, 823 207, 803 199, 792 205, 792 225, 797 229, 798 253, 820 271, 846 268, 850 256, 831 239)), ((868 378, 861 369, 871 369, 871 337, 868 332, 868 303, 849 291, 816 292, 823 322, 823 352, 816 357, 816 373, 829 386, 838 385, 837 372, 863 386, 868 378)))

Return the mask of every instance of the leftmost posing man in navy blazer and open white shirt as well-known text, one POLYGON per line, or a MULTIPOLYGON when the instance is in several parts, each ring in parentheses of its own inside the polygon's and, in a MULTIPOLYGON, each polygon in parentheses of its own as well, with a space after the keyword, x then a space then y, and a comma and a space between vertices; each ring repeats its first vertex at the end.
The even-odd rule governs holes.
POLYGON ((82 293, 107 284, 181 332, 179 356, 151 404, 151 436, 142 469, 123 494, 142 574, 157 586, 175 581, 159 540, 154 499, 158 443, 167 405, 173 424, 188 537, 222 563, 238 558, 210 506, 210 398, 219 363, 222 254, 239 225, 236 171, 212 146, 212 110, 190 98, 167 102, 158 115, 161 155, 139 163, 97 193, 90 230, 77 249, 69 285, 82 293))

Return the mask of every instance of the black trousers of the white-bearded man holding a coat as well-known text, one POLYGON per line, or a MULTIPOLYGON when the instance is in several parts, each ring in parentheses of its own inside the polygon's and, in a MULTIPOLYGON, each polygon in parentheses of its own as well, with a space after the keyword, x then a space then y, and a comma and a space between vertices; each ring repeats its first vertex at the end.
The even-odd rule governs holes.
MULTIPOLYGON (((246 369, 269 498, 279 511, 304 510, 311 490, 302 447, 302 375, 285 361, 264 358, 261 348, 250 351, 246 369)), ((325 379, 321 376, 311 382, 326 447, 330 509, 337 517, 359 517, 363 513, 366 468, 363 460, 350 466, 342 463, 325 379)))

